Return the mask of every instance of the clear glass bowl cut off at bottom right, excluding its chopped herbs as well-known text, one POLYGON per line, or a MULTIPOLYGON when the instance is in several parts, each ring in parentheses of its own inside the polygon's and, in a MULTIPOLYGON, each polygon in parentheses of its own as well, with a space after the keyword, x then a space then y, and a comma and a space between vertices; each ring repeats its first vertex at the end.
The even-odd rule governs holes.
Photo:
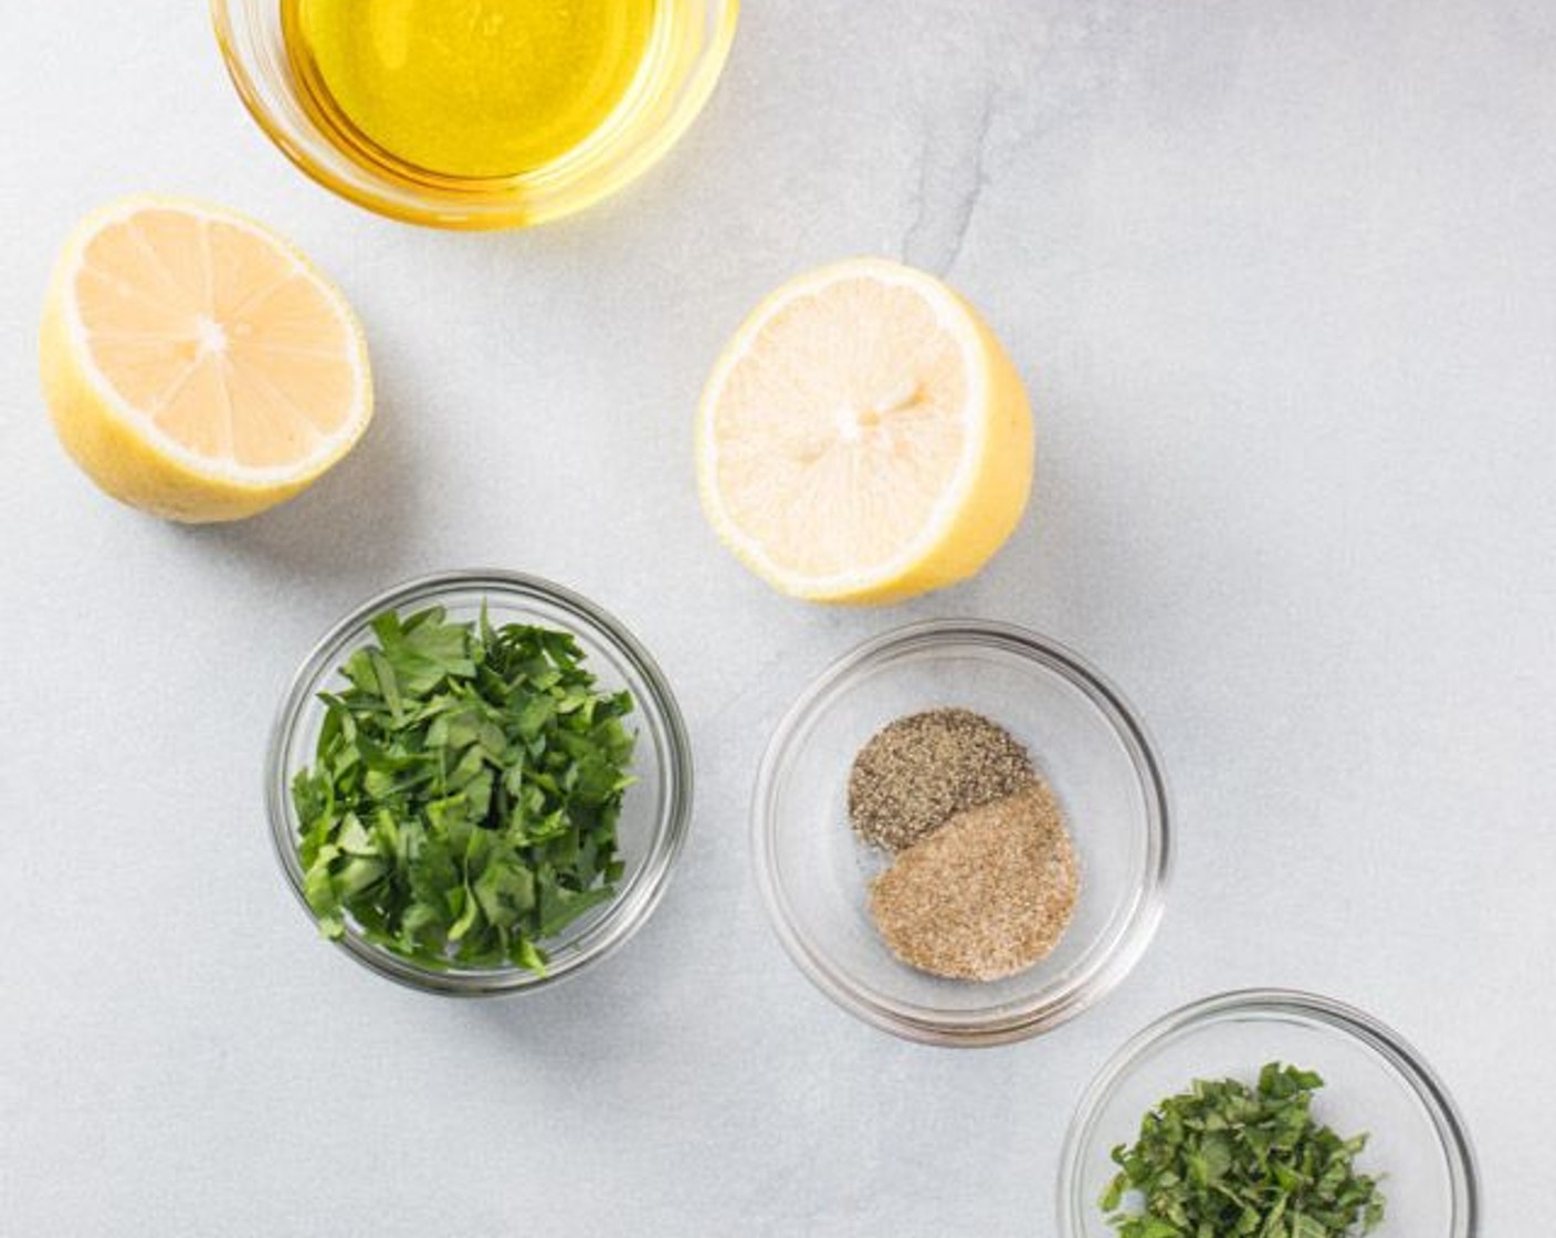
POLYGON ((1480 1183, 1464 1123, 1421 1056, 1371 1015, 1315 994, 1245 989, 1184 1006, 1134 1036, 1086 1089, 1060 1157, 1060 1232, 1117 1238, 1099 1199, 1141 1118, 1193 1079, 1253 1084, 1265 1062, 1316 1070, 1313 1117, 1368 1132, 1357 1165, 1383 1174, 1374 1238, 1475 1238, 1480 1183))

